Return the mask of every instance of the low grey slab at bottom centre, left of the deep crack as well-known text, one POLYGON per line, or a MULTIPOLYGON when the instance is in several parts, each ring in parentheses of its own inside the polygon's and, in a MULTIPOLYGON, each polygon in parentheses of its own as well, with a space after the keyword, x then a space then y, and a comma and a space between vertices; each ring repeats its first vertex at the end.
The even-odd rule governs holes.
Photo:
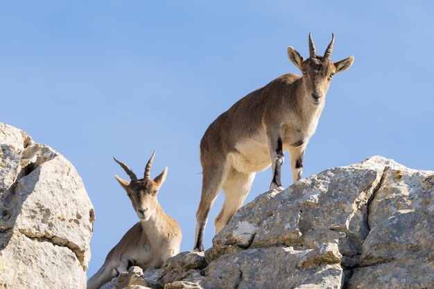
MULTIPOLYGON (((245 249, 209 263, 204 288, 340 288, 342 268, 336 245, 245 249), (309 287, 306 287, 309 288, 309 287)), ((189 281, 189 280, 186 280, 189 281)))

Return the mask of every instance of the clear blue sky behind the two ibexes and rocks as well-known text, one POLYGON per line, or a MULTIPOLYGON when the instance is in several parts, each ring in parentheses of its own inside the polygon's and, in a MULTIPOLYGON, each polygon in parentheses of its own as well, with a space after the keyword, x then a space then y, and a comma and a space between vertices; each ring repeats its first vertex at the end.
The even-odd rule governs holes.
MULTIPOLYGON (((434 169, 433 1, 1 1, 0 121, 67 157, 95 207, 88 276, 135 222, 113 161, 152 176, 168 166, 159 202, 193 248, 207 126, 284 73, 286 56, 354 55, 336 75, 304 160, 304 176, 383 155, 434 169)), ((291 184, 289 157, 282 169, 291 184)), ((259 173, 247 202, 267 191, 259 173)), ((214 236, 220 195, 205 247, 214 236)))

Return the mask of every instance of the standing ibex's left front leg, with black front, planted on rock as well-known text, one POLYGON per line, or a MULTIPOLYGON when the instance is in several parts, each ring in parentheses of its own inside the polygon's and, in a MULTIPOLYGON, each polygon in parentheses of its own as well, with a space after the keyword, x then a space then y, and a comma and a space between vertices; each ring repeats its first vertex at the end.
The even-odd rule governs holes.
POLYGON ((272 168, 270 190, 282 191, 284 187, 281 186, 281 165, 284 164, 284 151, 279 131, 277 129, 268 130, 267 136, 272 168))

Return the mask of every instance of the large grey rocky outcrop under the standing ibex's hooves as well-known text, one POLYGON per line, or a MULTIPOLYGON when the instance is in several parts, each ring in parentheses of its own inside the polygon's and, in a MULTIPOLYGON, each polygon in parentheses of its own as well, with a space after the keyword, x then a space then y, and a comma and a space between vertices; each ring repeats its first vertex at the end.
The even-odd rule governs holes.
POLYGON ((259 195, 155 287, 434 288, 433 220, 434 172, 370 157, 259 195))

